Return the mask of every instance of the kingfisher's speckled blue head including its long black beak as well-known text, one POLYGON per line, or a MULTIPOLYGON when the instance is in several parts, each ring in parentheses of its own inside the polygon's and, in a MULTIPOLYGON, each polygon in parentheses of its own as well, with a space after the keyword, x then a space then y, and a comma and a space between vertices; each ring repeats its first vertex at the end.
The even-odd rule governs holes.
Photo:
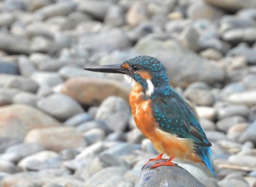
MULTIPOLYGON (((169 87, 170 83, 165 72, 165 66, 151 56, 136 56, 122 64, 85 67, 92 72, 107 72, 126 75, 140 84, 145 93, 150 96, 156 88, 169 87)), ((128 80, 130 80, 128 78, 128 80)))

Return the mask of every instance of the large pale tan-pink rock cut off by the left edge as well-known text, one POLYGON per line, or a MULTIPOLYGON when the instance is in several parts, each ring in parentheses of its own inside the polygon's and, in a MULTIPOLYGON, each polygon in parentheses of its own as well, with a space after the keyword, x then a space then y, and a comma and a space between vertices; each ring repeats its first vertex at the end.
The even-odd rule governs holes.
POLYGON ((23 104, 0 107, 0 113, 0 137, 23 139, 30 129, 60 125, 45 113, 23 104))

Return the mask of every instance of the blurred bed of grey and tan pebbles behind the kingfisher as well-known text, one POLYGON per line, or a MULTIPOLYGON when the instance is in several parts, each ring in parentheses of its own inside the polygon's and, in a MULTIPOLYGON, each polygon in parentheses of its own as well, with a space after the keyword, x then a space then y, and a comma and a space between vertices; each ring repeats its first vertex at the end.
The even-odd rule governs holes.
POLYGON ((2 187, 132 187, 157 153, 136 129, 120 75, 83 71, 159 58, 194 105, 219 178, 256 186, 255 0, 0 1, 2 187))

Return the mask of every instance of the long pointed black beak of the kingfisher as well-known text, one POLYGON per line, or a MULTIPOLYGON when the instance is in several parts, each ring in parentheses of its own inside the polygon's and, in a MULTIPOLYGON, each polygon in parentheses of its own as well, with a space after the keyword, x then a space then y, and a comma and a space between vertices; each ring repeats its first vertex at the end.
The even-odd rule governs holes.
POLYGON ((105 66, 91 66, 91 67, 84 67, 83 69, 91 71, 91 72, 120 73, 120 74, 128 73, 128 70, 124 69, 121 66, 121 64, 105 65, 105 66))

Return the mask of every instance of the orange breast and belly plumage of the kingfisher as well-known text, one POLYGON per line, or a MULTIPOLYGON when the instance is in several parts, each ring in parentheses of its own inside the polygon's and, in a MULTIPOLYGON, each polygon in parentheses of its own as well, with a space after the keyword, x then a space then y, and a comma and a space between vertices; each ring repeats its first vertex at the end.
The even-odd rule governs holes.
POLYGON ((178 159, 200 161, 193 153, 192 140, 180 139, 175 134, 159 129, 151 110, 151 102, 150 99, 145 99, 143 88, 136 83, 129 94, 129 103, 138 129, 153 142, 154 147, 160 153, 176 156, 178 159))

